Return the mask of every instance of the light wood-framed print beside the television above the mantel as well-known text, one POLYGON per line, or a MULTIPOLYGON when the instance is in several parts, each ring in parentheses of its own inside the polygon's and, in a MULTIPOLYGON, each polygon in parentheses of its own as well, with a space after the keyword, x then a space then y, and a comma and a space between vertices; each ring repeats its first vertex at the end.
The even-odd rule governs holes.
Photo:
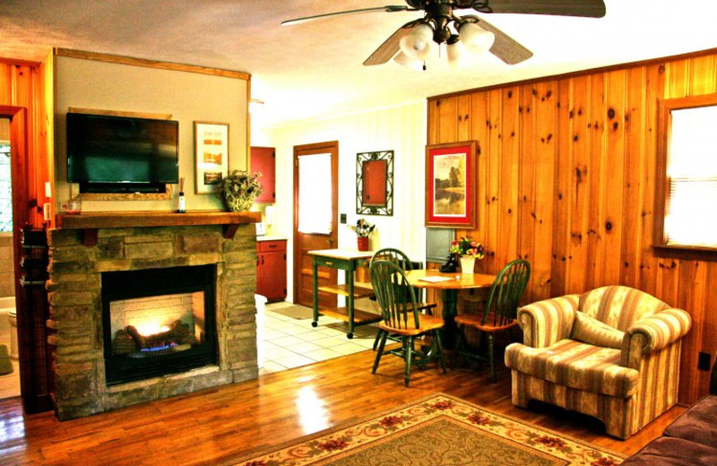
POLYGON ((229 169, 229 124, 194 122, 196 194, 215 193, 229 169))

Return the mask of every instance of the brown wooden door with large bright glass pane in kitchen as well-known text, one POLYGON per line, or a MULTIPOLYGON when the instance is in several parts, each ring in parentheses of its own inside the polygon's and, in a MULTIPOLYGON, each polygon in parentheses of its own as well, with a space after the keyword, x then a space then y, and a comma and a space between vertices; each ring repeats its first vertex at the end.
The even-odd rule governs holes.
MULTIPOLYGON (((337 246, 339 142, 294 147, 294 302, 313 304, 312 256, 337 246)), ((318 285, 336 283, 336 269, 320 267, 318 285)), ((336 307, 336 296, 319 292, 319 308, 336 307)))

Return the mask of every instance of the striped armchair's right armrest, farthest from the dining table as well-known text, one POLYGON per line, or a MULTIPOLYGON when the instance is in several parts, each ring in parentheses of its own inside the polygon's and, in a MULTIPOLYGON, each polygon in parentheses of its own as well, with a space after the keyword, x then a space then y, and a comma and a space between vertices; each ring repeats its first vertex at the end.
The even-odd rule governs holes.
MULTIPOLYGON (((692 319, 682 309, 665 309, 659 313, 645 317, 640 322, 628 328, 626 341, 623 342, 623 352, 640 351, 641 355, 661 350, 670 343, 678 341, 689 332, 692 319)), ((627 354, 626 361, 638 355, 627 354)), ((630 366, 632 367, 632 366, 630 366)))

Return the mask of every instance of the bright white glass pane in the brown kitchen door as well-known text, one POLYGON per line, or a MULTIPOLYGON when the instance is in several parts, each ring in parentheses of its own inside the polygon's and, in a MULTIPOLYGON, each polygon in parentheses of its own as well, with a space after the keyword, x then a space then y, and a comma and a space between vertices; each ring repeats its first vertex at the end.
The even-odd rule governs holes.
POLYGON ((307 234, 331 234, 331 188, 331 154, 298 157, 298 231, 307 234))

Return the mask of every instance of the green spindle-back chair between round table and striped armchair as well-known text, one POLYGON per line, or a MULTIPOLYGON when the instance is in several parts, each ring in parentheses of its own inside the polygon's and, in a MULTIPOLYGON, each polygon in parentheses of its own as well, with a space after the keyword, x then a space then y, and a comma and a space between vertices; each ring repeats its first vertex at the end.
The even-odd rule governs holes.
POLYGON ((496 361, 494 350, 494 333, 496 332, 513 332, 514 327, 518 325, 516 316, 518 314, 518 304, 523 297, 525 287, 531 277, 531 264, 523 259, 517 259, 512 263, 508 263, 503 270, 498 272, 496 280, 488 292, 488 300, 483 306, 482 312, 478 314, 463 314, 455 316, 455 324, 458 327, 458 338, 455 341, 454 358, 463 356, 466 358, 477 359, 479 361, 488 360, 490 363, 490 375, 495 383, 496 361), (479 352, 471 351, 465 342, 465 328, 471 327, 479 332, 484 332, 488 337, 488 357, 479 352))

